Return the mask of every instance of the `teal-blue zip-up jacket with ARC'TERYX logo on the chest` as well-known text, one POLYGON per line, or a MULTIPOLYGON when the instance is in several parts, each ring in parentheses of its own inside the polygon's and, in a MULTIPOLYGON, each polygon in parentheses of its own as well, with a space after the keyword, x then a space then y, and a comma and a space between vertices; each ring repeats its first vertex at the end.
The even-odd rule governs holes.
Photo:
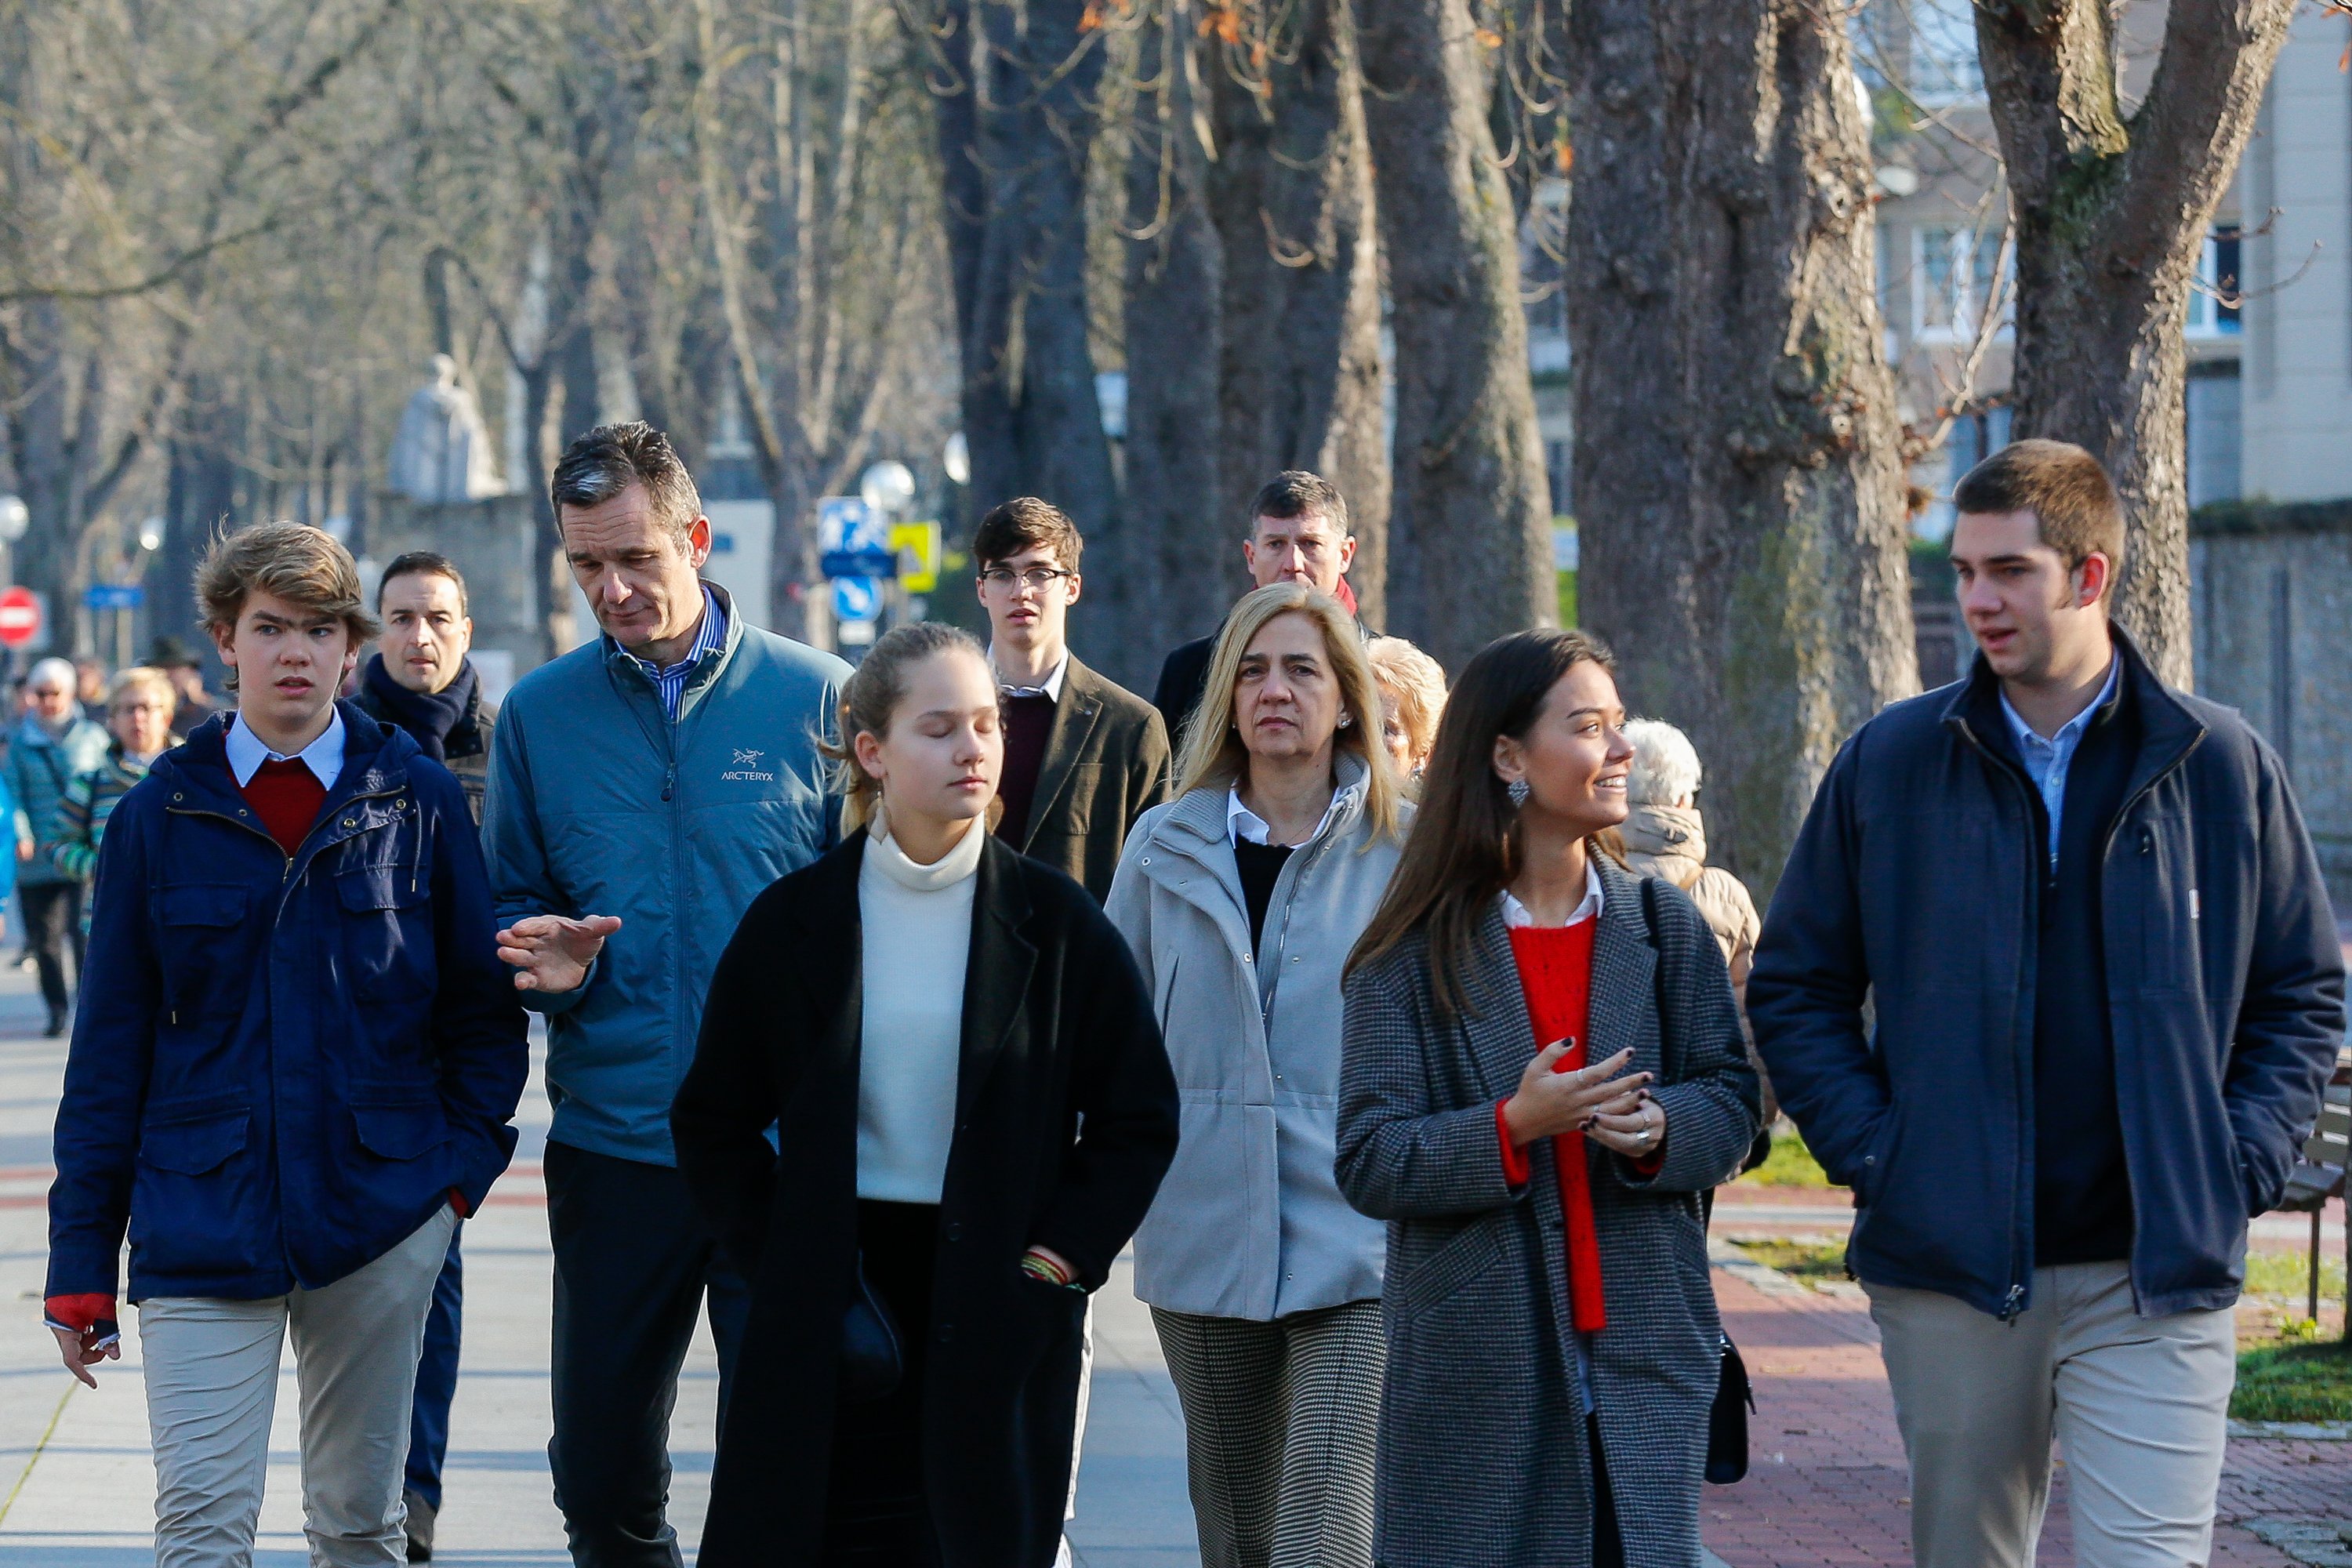
POLYGON ((821 729, 849 665, 743 625, 687 675, 673 724, 609 637, 532 670, 499 708, 482 842, 499 922, 619 914, 588 978, 520 992, 548 1013, 550 1138, 656 1166, 703 997, 769 882, 816 860, 837 809, 821 729))

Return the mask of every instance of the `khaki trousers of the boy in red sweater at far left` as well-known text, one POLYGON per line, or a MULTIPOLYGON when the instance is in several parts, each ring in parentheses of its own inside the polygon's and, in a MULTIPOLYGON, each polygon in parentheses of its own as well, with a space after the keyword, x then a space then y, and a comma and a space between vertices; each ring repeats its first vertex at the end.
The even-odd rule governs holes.
POLYGON ((155 1441, 155 1568, 247 1568, 270 1465, 278 1356, 294 1335, 301 1387, 301 1505, 310 1563, 395 1568, 409 1401, 426 1309, 456 1213, 318 1291, 268 1300, 139 1302, 148 1432, 155 1441))

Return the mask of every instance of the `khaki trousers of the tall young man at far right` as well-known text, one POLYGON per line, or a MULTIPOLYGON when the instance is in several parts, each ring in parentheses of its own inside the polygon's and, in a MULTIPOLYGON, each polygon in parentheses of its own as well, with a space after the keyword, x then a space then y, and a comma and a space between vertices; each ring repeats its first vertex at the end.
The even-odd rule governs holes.
POLYGON ((2082 1568, 2201 1568, 2213 1547, 2234 1312, 2138 1316, 2122 1262, 2034 1269, 2004 1324, 1865 1284, 1912 1465, 1917 1568, 2032 1568, 2065 1450, 2082 1568))

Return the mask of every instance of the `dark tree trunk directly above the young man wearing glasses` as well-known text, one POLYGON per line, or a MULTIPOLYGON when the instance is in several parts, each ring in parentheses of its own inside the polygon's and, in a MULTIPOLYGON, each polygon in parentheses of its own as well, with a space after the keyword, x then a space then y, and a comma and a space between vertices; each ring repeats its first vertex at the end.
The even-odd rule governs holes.
POLYGON ((1101 33, 1084 0, 948 0, 938 101, 971 508, 1042 496, 1082 534, 1117 515, 1087 343, 1087 155, 1101 33))

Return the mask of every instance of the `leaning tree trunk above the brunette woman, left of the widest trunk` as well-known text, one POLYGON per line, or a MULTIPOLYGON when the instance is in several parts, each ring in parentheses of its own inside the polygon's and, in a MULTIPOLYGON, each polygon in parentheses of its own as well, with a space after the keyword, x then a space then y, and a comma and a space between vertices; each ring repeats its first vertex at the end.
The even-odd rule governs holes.
POLYGON ((1465 0, 1355 0, 1395 329, 1388 611, 1461 670, 1555 625, 1519 240, 1465 0))

